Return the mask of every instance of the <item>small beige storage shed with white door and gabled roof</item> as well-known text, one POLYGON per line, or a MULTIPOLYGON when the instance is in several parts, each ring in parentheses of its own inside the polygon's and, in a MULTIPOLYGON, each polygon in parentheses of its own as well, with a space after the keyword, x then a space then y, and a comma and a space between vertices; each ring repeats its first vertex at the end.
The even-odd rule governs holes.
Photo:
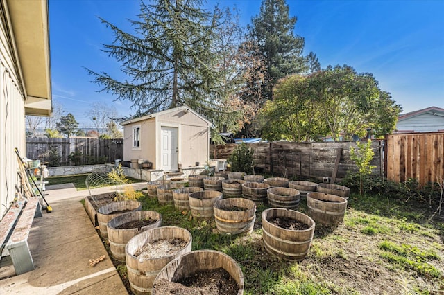
POLYGON ((123 161, 149 161, 165 172, 203 166, 210 156, 210 121, 187 106, 126 120, 123 161))

